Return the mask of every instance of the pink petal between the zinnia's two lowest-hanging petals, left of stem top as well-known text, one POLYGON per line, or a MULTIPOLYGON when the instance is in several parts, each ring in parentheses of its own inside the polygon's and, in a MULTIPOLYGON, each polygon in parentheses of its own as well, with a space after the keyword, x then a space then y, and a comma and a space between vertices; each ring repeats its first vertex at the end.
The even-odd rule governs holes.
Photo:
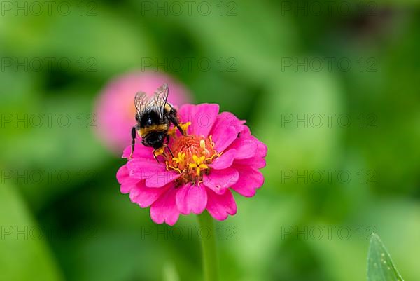
POLYGON ((204 186, 186 184, 176 193, 176 206, 181 214, 201 214, 207 206, 207 191, 204 186))

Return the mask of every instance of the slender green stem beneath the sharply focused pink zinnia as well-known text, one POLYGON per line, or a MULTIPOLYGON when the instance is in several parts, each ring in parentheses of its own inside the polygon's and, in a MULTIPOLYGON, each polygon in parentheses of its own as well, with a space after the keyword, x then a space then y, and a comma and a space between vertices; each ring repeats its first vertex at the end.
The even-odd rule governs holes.
MULTIPOLYGON (((217 281, 218 268, 217 268, 217 254, 216 254, 216 233, 214 229, 214 220, 207 211, 198 215, 200 228, 207 228, 211 231, 209 237, 202 238, 202 254, 203 254, 203 267, 204 267, 204 281, 217 281)), ((200 230, 201 230, 200 229, 200 230)), ((203 231, 203 233, 207 233, 203 231)), ((201 231, 199 231, 201 233, 201 231)))

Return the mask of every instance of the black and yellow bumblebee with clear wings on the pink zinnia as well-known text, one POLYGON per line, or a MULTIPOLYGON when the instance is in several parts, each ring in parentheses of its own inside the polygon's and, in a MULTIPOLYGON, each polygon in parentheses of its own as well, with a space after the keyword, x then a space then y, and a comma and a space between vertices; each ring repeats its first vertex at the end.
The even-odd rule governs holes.
MULTIPOLYGON (((176 109, 167 102, 169 89, 167 84, 161 85, 155 91, 153 97, 149 98, 146 92, 137 92, 134 97, 134 106, 136 107, 137 124, 132 128, 132 153, 136 142, 136 134, 141 137, 141 144, 153 147, 153 156, 159 162, 156 151, 169 146, 169 126, 174 124, 182 135, 186 135, 179 125, 176 109), (166 143, 165 143, 166 142, 166 143)), ((169 149, 172 155, 172 151, 169 149)), ((173 157, 173 156, 172 156, 173 157)))

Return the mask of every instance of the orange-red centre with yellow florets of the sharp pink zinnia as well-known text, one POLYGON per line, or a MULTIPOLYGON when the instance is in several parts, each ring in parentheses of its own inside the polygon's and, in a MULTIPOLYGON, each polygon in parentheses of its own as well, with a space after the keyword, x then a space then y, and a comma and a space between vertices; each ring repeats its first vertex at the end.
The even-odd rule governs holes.
MULTIPOLYGON (((190 122, 180 125, 187 132, 190 122)), ((169 148, 174 157, 166 157, 167 170, 175 170, 181 174, 177 180, 179 185, 187 182, 200 184, 203 175, 209 172, 209 165, 219 156, 211 137, 174 134, 172 139, 174 141, 169 144, 169 148)))

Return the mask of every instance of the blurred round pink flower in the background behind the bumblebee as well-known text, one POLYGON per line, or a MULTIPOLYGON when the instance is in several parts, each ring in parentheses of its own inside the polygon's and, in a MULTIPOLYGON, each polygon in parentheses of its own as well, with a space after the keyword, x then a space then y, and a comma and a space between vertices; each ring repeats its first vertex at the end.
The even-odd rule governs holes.
POLYGON ((113 78, 99 94, 96 104, 99 138, 118 153, 131 143, 131 129, 136 124, 134 96, 143 91, 149 95, 163 83, 169 85, 168 101, 179 107, 191 98, 188 90, 174 78, 157 72, 134 71, 113 78))

